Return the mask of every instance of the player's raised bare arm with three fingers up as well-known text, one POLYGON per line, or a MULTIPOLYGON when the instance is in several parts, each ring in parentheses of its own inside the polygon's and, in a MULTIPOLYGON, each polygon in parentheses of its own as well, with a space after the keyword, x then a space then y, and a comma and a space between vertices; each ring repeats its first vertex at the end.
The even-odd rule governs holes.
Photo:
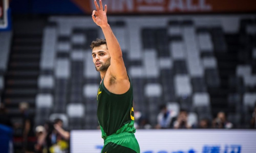
POLYGON ((97 1, 94 1, 96 10, 93 11, 92 17, 93 21, 101 27, 104 36, 106 38, 108 50, 111 56, 111 64, 110 64, 110 70, 111 75, 114 76, 117 80, 120 79, 127 79, 127 72, 125 68, 125 64, 122 57, 122 50, 120 48, 120 45, 113 34, 109 24, 108 19, 106 16, 107 12, 107 6, 105 5, 105 9, 103 11, 102 1, 100 0, 100 7, 98 6, 97 1))

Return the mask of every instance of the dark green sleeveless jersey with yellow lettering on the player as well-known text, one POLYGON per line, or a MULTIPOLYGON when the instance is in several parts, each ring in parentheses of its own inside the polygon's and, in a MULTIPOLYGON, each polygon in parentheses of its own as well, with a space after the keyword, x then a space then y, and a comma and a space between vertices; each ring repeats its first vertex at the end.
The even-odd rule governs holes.
POLYGON ((104 140, 112 134, 135 133, 132 100, 131 81, 129 90, 124 94, 117 95, 105 88, 103 78, 97 95, 97 116, 104 140))

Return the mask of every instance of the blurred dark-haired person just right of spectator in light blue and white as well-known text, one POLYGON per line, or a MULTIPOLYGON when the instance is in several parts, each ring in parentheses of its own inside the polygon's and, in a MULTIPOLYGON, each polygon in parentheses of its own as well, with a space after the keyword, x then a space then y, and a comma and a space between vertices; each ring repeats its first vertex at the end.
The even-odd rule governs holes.
POLYGON ((181 109, 177 118, 174 118, 171 122, 171 127, 174 129, 190 129, 192 125, 188 123, 188 112, 185 109, 181 109))

